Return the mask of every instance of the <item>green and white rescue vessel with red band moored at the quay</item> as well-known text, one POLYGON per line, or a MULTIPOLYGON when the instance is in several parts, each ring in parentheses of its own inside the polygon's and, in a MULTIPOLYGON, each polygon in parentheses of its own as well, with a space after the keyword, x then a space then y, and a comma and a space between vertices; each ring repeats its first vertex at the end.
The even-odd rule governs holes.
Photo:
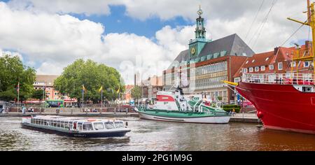
POLYGON ((166 122, 188 122, 204 124, 227 124, 231 115, 220 106, 221 103, 194 97, 186 99, 183 90, 158 92, 157 100, 150 106, 136 106, 141 119, 166 122))

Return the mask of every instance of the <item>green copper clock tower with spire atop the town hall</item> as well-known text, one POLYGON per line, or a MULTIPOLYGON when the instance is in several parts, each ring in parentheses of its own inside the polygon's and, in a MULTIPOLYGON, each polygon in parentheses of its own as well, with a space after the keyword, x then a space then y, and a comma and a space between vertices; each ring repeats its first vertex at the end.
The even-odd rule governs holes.
POLYGON ((204 45, 206 45, 209 40, 206 38, 206 28, 204 27, 204 18, 202 15, 201 7, 197 11, 199 17, 196 19, 196 29, 195 29, 195 39, 189 42, 189 57, 198 57, 204 45))

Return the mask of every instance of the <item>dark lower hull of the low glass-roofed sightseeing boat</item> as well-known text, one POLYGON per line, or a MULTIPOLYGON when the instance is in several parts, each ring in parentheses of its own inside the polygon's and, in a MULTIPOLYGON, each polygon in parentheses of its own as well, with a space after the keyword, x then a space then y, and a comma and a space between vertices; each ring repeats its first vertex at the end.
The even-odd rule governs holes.
POLYGON ((66 131, 66 130, 55 130, 55 129, 48 129, 45 127, 39 127, 35 125, 30 125, 26 123, 22 123, 22 128, 25 129, 31 129, 35 131, 43 131, 45 133, 50 134, 58 134, 61 136, 69 136, 73 138, 108 138, 108 137, 120 137, 125 136, 127 132, 130 131, 130 129, 126 130, 120 130, 120 131, 107 131, 107 132, 93 132, 93 133, 87 133, 87 132, 76 132, 76 131, 66 131))

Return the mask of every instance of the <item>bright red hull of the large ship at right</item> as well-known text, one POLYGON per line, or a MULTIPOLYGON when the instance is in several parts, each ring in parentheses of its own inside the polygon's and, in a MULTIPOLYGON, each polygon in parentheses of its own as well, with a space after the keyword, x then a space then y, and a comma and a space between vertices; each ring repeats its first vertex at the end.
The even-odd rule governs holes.
POLYGON ((237 92, 251 101, 267 129, 315 134, 315 93, 293 85, 239 82, 237 92))

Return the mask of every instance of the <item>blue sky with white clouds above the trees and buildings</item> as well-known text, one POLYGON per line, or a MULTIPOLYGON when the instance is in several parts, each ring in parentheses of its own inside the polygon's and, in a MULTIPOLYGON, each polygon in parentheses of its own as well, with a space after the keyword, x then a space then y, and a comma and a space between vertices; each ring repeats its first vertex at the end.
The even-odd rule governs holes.
POLYGON ((302 45, 306 0, 7 0, 0 1, 0 56, 16 55, 37 74, 60 75, 76 59, 120 71, 162 75, 195 37, 201 6, 207 37, 238 34, 256 53, 302 45), (287 41, 286 43, 283 43, 287 41))

